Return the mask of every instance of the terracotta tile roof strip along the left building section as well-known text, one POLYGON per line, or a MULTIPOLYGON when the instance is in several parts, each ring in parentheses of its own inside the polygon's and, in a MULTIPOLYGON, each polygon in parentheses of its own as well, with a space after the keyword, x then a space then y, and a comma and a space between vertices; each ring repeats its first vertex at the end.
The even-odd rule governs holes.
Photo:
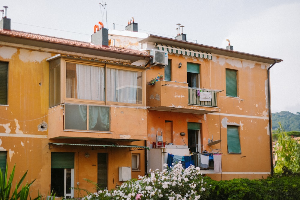
POLYGON ((124 52, 124 53, 133 53, 138 55, 145 55, 149 56, 146 52, 140 52, 133 49, 125 49, 122 47, 114 47, 114 46, 102 46, 102 45, 94 45, 92 43, 88 42, 82 42, 77 40, 70 40, 70 39, 64 39, 59 37, 52 37, 47 35, 41 35, 41 34, 34 34, 34 33, 28 33, 23 31, 15 31, 15 30, 1 30, 0 29, 0 35, 7 35, 10 37, 20 37, 20 38, 28 38, 33 40, 39 40, 49 43, 60 43, 65 45, 74 45, 74 46, 82 46, 82 47, 89 47, 89 48, 95 48, 95 49, 103 49, 103 50, 111 50, 111 51, 118 51, 118 52, 124 52))

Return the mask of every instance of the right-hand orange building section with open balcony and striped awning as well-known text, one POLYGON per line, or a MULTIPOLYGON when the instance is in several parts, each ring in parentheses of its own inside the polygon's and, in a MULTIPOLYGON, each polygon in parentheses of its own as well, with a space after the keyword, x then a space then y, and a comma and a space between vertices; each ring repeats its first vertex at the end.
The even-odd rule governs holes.
POLYGON ((272 174, 269 70, 283 60, 234 51, 229 40, 226 49, 187 42, 182 26, 175 39, 139 33, 137 23, 126 30, 110 30, 115 46, 154 56, 146 70, 148 170, 164 169, 170 154, 193 154, 215 180, 272 174))

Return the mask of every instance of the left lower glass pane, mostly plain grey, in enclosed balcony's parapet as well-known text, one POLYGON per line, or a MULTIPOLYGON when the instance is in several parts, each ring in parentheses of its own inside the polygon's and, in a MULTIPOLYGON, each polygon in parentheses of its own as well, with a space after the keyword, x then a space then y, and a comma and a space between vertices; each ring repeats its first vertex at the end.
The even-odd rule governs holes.
POLYGON ((87 130, 87 106, 65 104, 65 129, 87 130))

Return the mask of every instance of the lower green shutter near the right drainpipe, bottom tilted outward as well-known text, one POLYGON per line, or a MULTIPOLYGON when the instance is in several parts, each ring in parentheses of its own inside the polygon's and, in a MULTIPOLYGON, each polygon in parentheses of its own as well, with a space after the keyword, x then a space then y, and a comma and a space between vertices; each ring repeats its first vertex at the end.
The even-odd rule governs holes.
POLYGON ((227 147, 228 153, 241 153, 240 137, 237 126, 227 126, 227 147))

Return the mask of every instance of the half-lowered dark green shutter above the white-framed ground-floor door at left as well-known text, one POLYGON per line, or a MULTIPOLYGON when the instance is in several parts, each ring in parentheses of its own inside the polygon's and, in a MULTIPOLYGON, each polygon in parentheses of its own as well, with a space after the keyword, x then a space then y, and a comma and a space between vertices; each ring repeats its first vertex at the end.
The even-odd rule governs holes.
POLYGON ((51 168, 74 168, 74 153, 51 152, 51 168))

